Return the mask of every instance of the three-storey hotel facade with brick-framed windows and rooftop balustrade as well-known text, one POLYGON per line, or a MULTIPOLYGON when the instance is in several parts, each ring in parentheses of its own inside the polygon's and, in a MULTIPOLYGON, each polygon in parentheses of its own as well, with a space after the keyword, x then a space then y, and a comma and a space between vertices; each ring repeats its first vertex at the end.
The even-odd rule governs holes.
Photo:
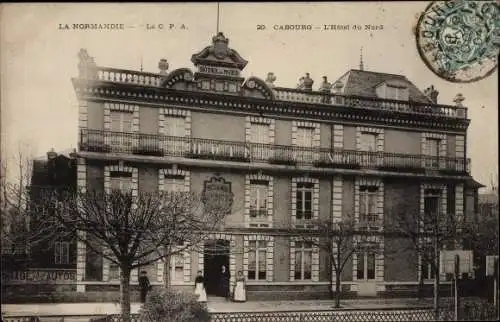
MULTIPOLYGON (((244 273, 249 298, 319 297, 330 285, 328 254, 290 231, 353 218, 380 232, 401 200, 414 213, 464 215, 463 97, 441 105, 433 87, 421 91, 405 76, 362 67, 334 83, 324 77, 317 89, 309 74, 297 88, 277 87, 273 73, 242 77, 247 61, 228 42, 213 37, 192 56, 194 72, 168 71, 166 60, 159 73, 99 67, 82 50, 73 79, 79 188, 201 192, 217 181, 234 195, 234 211, 202 250, 172 259, 172 285, 191 290, 198 270, 210 280, 226 264, 231 284, 244 273), (213 245, 227 251, 203 251, 213 245)), ((343 291, 397 293, 420 277, 431 284, 419 256, 392 255, 405 242, 377 235, 374 247, 349 259, 343 291)), ((163 285, 163 263, 145 269, 163 285)), ((116 287, 118 277, 117 267, 78 245, 78 291, 116 287)))

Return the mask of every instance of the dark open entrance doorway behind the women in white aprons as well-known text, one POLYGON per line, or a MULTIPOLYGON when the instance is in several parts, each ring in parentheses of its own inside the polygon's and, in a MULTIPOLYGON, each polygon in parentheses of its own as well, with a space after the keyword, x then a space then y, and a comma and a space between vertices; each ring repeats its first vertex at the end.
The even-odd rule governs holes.
MULTIPOLYGON (((209 240, 205 242, 204 272, 206 291, 208 295, 222 296, 221 268, 226 266, 229 279, 229 241, 228 240, 209 240)), ((229 281, 227 283, 229 288, 229 281)))

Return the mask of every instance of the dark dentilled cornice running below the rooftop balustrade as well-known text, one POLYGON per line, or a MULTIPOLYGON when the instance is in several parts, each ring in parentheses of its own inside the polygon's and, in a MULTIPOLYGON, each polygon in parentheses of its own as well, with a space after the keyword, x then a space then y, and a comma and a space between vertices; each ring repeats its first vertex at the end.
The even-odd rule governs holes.
POLYGON ((399 125, 410 128, 466 131, 467 119, 439 117, 436 115, 408 114, 397 111, 372 110, 347 106, 308 104, 281 100, 265 100, 253 97, 216 94, 198 91, 180 91, 168 88, 117 84, 107 81, 88 81, 73 78, 79 99, 127 99, 130 101, 153 101, 158 104, 219 108, 221 111, 238 111, 267 115, 292 116, 297 119, 363 122, 373 125, 399 125))

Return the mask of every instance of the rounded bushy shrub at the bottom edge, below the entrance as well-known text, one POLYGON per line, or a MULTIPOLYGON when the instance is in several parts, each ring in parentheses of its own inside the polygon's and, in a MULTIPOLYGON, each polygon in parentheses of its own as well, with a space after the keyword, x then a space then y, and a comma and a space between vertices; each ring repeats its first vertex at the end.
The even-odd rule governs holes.
POLYGON ((139 311, 142 322, 209 322, 205 303, 192 294, 174 290, 153 290, 139 311))

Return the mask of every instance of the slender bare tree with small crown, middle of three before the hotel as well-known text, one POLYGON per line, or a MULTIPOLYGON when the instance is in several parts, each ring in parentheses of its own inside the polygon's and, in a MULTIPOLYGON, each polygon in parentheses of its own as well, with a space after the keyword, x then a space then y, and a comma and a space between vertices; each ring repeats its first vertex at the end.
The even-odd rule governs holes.
POLYGON ((335 295, 335 307, 340 307, 342 272, 352 255, 366 246, 369 234, 360 230, 359 224, 351 219, 338 222, 329 219, 316 220, 314 226, 314 230, 297 238, 311 243, 328 254, 330 296, 333 298, 335 295), (335 293, 333 293, 333 274, 335 274, 335 293))

